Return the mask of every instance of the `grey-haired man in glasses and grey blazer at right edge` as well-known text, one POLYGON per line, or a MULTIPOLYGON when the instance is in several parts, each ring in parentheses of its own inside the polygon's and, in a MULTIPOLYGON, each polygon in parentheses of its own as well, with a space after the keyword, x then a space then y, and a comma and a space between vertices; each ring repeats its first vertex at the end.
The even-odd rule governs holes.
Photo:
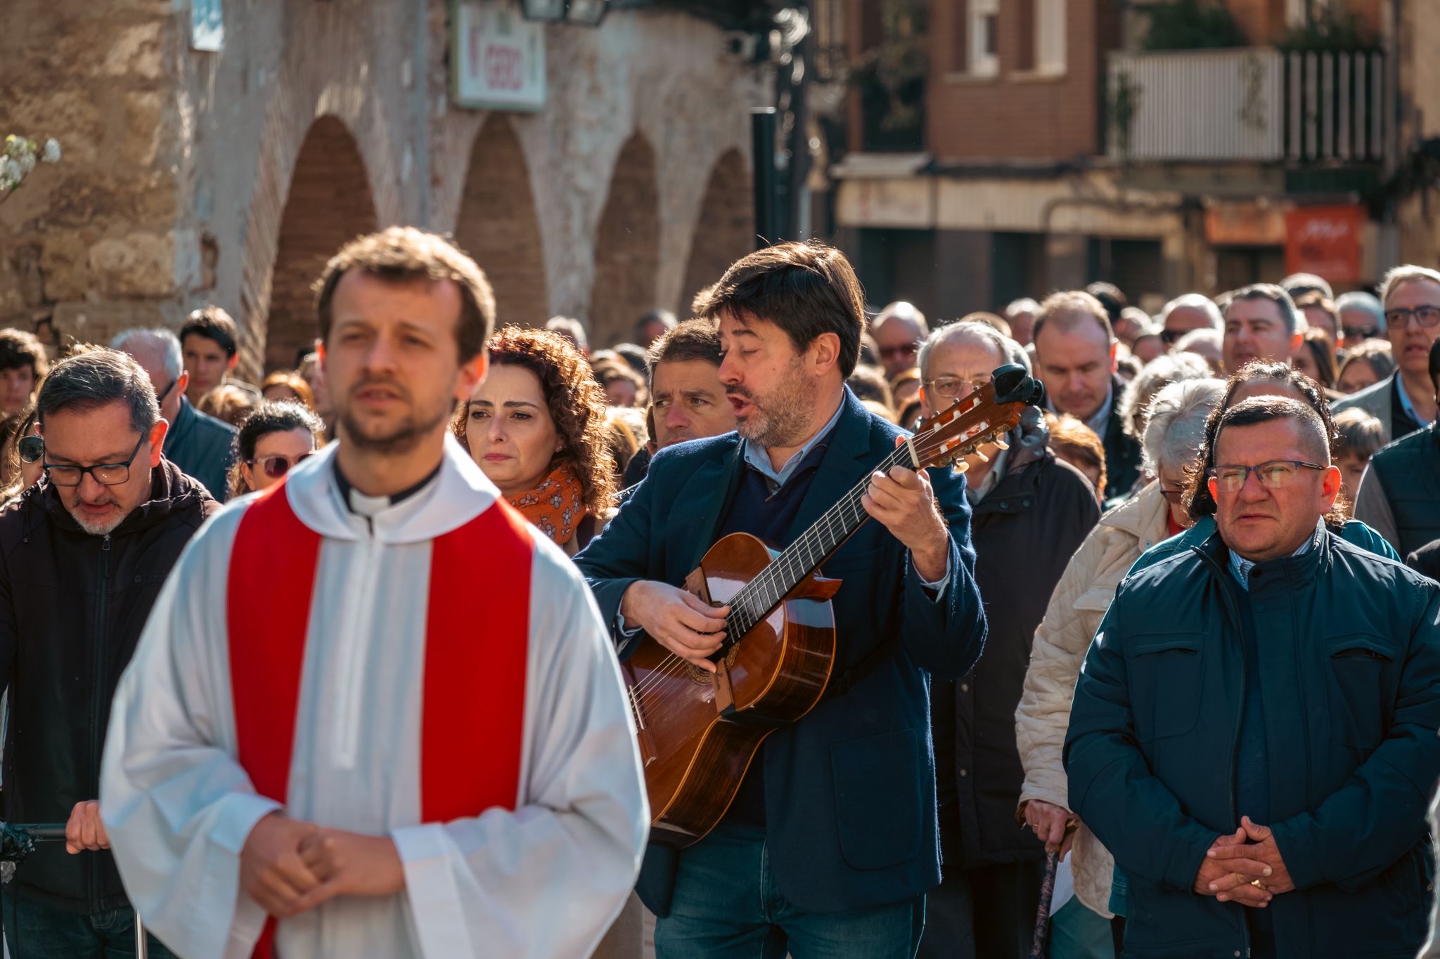
POLYGON ((1358 408, 1385 427, 1385 443, 1408 436, 1436 420, 1430 347, 1440 339, 1440 272, 1397 266, 1380 288, 1385 305, 1384 331, 1395 358, 1395 372, 1372 387, 1335 403, 1335 411, 1358 408))

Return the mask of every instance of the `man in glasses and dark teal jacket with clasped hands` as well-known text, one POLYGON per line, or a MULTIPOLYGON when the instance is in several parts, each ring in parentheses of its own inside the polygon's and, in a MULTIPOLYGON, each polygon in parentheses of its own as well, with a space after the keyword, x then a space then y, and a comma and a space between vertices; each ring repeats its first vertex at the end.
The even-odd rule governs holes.
POLYGON ((1201 450, 1217 532, 1122 584, 1076 684, 1074 811, 1128 876, 1125 952, 1407 956, 1440 776, 1440 585, 1326 526, 1309 405, 1201 450))

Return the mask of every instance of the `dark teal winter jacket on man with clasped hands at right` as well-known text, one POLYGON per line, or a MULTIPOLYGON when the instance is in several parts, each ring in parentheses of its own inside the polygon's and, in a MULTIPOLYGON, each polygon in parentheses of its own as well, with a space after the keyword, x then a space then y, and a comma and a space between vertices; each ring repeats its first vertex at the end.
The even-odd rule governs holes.
POLYGON ((1410 959, 1428 920, 1440 778, 1440 584, 1331 532, 1257 564, 1220 536, 1120 582, 1076 684, 1070 807, 1129 880, 1128 959, 1250 955, 1243 910, 1192 890, 1237 820, 1246 686, 1260 680, 1270 822, 1295 890, 1279 959, 1410 959), (1247 676, 1241 600, 1254 615, 1247 676))

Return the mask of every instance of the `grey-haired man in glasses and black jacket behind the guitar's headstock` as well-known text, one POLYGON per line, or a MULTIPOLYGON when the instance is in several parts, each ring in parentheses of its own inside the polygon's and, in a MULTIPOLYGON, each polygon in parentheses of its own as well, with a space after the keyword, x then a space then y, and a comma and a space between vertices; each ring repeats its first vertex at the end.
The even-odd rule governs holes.
MULTIPOLYGON (((936 329, 920 347, 922 413, 935 416, 982 388, 1002 364, 1030 361, 994 326, 936 329)), ((930 686, 943 878, 926 899, 917 959, 1028 956, 1040 903, 1045 850, 1014 828, 1024 779, 1015 706, 1045 602, 1100 508, 1089 480, 1051 451, 1041 410, 1027 407, 1002 443, 963 460, 989 634, 969 674, 930 686), (1024 575, 1015 575, 1020 568, 1024 575)))

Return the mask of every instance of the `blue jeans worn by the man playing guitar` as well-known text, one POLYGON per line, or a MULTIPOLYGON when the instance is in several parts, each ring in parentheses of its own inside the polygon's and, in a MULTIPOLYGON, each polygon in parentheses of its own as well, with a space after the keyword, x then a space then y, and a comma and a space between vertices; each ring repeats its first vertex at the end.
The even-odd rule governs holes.
POLYGON ((720 825, 680 854, 670 916, 655 922, 657 959, 912 959, 924 896, 842 913, 811 913, 775 886, 765 830, 720 825))

